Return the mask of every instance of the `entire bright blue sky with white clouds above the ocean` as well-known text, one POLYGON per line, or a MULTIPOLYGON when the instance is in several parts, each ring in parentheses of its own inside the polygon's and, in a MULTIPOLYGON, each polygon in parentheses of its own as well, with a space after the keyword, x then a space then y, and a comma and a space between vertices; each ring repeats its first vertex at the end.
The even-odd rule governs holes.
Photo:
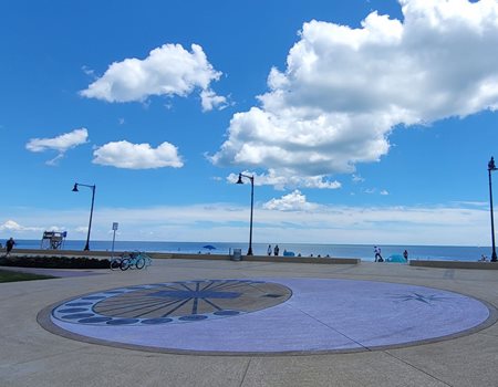
POLYGON ((242 172, 253 242, 490 244, 497 0, 1 0, 0 36, 0 240, 84 240, 79 182, 93 240, 246 241, 242 172))

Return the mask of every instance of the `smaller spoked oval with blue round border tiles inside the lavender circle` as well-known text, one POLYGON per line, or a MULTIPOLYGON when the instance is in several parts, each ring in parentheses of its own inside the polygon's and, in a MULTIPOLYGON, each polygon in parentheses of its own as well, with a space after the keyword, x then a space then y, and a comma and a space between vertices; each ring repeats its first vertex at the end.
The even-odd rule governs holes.
POLYGON ((284 302, 281 284, 250 280, 204 280, 114 289, 59 305, 62 322, 91 325, 157 325, 236 316, 284 302))

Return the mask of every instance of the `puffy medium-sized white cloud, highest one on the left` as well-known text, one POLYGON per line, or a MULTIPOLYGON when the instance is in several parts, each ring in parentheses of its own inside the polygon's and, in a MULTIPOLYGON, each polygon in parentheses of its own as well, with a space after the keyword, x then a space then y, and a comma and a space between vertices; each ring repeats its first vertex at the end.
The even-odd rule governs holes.
POLYGON ((210 111, 226 104, 226 98, 210 88, 220 76, 200 45, 193 44, 188 52, 180 44, 164 44, 144 60, 131 57, 112 63, 80 94, 107 102, 144 102, 153 95, 185 97, 200 88, 203 109, 210 111))

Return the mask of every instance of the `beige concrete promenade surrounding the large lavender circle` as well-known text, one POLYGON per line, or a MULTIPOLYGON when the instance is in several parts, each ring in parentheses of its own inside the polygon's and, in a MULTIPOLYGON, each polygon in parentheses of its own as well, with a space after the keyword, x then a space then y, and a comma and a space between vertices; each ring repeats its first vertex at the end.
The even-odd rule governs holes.
MULTIPOLYGON (((409 284, 468 295, 488 303, 492 311, 498 307, 496 270, 175 259, 155 260, 143 271, 94 272, 104 274, 0 284, 0 386, 498 386, 496 323, 450 339, 417 345, 232 356, 92 344, 50 333, 37 321, 48 306, 84 294, 199 279, 341 279, 409 284)), ((189 324, 199 324, 191 325, 199 330, 203 326, 203 322, 189 324)))

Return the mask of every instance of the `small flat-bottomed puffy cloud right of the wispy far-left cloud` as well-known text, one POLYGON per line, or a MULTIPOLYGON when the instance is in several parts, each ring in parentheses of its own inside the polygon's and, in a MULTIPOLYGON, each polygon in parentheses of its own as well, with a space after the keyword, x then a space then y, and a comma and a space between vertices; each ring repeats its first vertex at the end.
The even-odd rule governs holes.
POLYGON ((125 169, 180 168, 184 165, 178 149, 166 142, 157 148, 126 140, 107 143, 96 148, 93 156, 94 164, 125 169))

